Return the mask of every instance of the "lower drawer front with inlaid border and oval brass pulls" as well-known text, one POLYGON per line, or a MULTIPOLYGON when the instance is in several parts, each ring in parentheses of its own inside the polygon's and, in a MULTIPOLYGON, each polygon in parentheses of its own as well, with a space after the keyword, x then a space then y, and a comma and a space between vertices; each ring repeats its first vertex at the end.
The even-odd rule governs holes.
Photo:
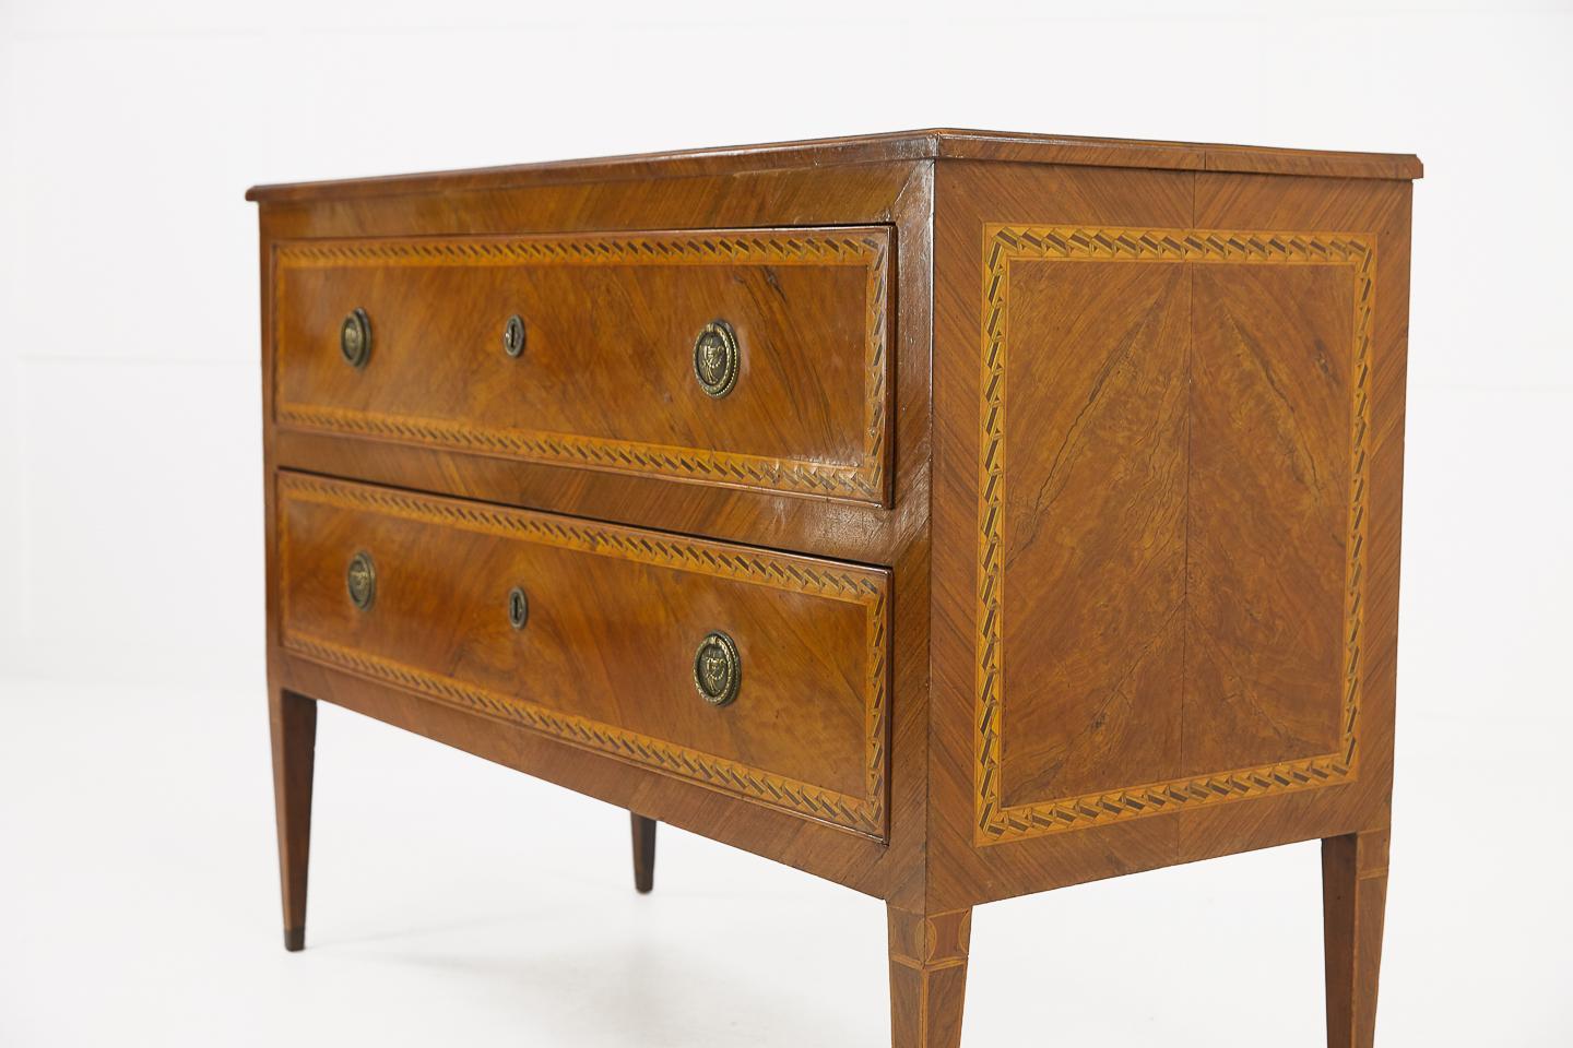
POLYGON ((887 572, 293 473, 277 495, 286 650, 886 836, 887 572))

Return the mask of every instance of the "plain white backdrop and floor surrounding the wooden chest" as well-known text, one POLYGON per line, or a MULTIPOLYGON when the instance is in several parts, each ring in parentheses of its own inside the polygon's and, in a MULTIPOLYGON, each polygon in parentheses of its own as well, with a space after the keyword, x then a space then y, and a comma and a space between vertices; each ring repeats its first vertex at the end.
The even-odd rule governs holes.
MULTIPOLYGON (((936 124, 1425 160, 1380 1039, 1573 1043, 1573 6, 1313 6, 0 2, 0 1045, 886 1043, 878 902, 327 707, 282 951, 242 192, 936 124)), ((967 1043, 1318 1045, 1318 875, 983 907, 967 1043)))

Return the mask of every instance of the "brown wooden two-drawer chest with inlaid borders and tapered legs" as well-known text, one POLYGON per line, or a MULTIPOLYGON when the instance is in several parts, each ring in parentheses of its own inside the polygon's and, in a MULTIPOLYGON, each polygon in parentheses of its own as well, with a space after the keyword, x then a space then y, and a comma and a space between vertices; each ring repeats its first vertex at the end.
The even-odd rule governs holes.
MULTIPOLYGON (((316 701, 882 899, 1386 896, 1414 157, 912 132, 261 187, 285 940, 316 701)), ((1224 1040, 1246 1031, 1219 1031, 1224 1040)))

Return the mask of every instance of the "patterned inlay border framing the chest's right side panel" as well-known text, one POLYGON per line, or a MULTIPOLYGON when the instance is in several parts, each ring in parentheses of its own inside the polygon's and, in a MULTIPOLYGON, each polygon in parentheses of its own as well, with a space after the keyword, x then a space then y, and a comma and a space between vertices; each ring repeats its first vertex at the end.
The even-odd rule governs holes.
POLYGON ((978 445, 977 561, 977 798, 980 845, 1082 830, 1203 804, 1315 789, 1354 779, 1362 688, 1361 632, 1365 578, 1367 404, 1372 317, 1376 299, 1373 237, 1324 233, 1230 233, 1200 229, 1117 229, 1087 226, 983 226, 983 324, 978 445), (1345 691, 1335 753, 1218 771, 1164 782, 1049 801, 1000 801, 1004 727, 1004 514, 1005 514, 1005 357, 1010 262, 1013 259, 1131 262, 1249 262, 1268 266, 1346 266, 1354 280, 1351 365, 1348 564, 1345 569, 1345 691))

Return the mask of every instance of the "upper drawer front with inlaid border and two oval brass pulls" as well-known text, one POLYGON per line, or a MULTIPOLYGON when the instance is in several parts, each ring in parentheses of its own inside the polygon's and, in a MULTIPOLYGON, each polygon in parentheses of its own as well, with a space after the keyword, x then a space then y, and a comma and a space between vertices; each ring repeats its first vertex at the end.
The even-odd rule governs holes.
POLYGON ((887 501, 884 228, 294 240, 274 280, 282 426, 887 501))

